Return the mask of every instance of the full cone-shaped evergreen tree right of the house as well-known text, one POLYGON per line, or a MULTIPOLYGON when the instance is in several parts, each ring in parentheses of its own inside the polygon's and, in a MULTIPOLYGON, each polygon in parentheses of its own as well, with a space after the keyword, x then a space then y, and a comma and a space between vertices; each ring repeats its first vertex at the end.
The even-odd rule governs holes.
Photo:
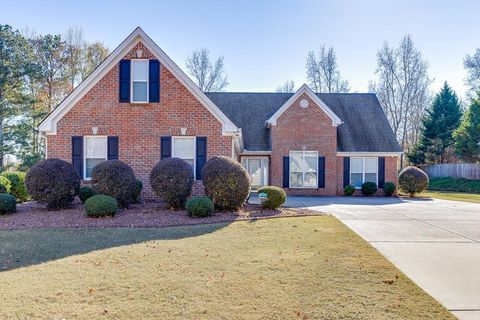
POLYGON ((454 144, 453 132, 458 128, 461 117, 458 97, 445 82, 422 119, 420 139, 408 155, 410 162, 443 163, 454 144))

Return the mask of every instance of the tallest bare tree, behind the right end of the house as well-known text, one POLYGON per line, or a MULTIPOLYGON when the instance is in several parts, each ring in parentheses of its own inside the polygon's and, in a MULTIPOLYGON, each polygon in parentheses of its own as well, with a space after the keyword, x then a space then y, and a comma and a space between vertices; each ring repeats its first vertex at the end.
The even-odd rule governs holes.
POLYGON ((430 103, 432 80, 427 69, 427 61, 410 35, 402 38, 398 48, 385 43, 377 52, 378 79, 370 82, 369 89, 377 94, 405 152, 417 141, 422 116, 430 103))

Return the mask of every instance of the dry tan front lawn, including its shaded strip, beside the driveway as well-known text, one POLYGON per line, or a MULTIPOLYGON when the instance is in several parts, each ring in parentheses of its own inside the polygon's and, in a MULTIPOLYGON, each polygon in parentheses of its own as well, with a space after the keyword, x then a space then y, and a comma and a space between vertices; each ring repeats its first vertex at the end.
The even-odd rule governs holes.
POLYGON ((64 257, 0 272, 7 319, 454 319, 329 216, 1 231, 0 243, 4 265, 64 257))

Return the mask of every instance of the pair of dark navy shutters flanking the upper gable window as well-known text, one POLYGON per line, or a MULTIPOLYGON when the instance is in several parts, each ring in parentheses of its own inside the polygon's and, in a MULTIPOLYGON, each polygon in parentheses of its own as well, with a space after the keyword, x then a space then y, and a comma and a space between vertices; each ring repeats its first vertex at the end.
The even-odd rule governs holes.
MULTIPOLYGON (((130 102, 130 68, 131 60, 120 61, 119 71, 119 101, 130 102)), ((149 102, 160 102, 160 62, 149 61, 149 102)))

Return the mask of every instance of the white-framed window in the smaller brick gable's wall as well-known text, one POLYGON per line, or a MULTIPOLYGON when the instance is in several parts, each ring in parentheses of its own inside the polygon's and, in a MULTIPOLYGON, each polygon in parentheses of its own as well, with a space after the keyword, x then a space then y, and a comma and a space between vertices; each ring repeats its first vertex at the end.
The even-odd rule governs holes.
POLYGON ((290 151, 290 188, 317 188, 317 176, 317 151, 290 151))

